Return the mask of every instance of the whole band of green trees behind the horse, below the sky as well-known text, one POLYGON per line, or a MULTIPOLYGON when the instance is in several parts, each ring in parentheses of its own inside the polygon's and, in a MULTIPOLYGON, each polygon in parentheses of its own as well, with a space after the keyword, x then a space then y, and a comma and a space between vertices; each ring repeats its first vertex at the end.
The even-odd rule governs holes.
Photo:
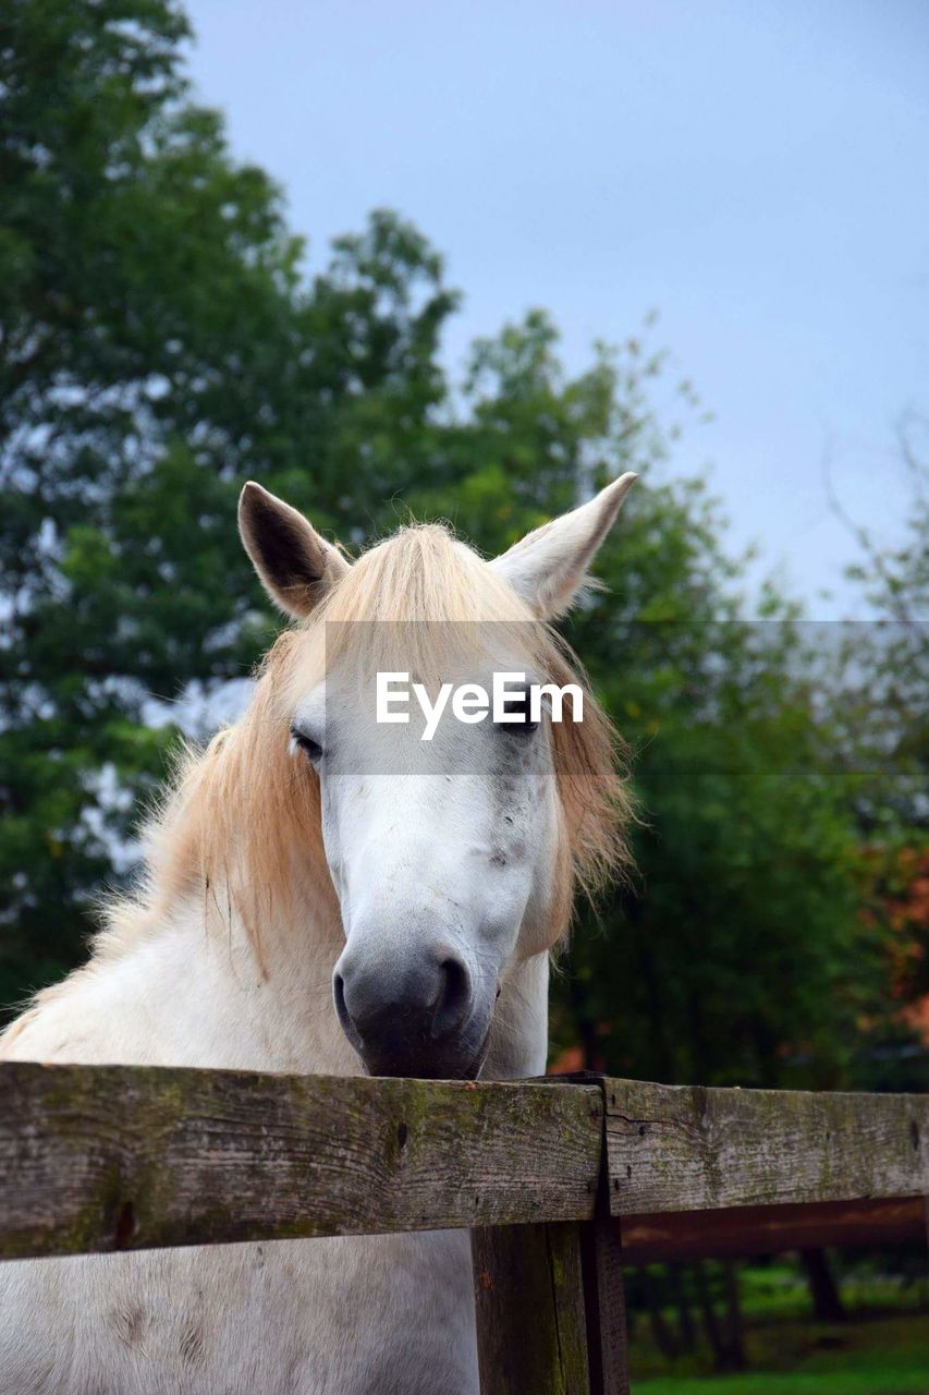
POLYGON ((880 1042, 877 1083, 904 1078, 925 939, 894 897, 925 857, 925 670, 900 607, 925 601, 921 536, 879 566, 863 551, 894 643, 826 643, 774 587, 745 619, 718 506, 670 472, 699 403, 647 328, 572 378, 534 311, 451 382, 439 255, 381 211, 310 275, 280 193, 191 102, 187 38, 173 0, 0 18, 0 1002, 77 963, 93 897, 131 875, 169 704, 215 711, 273 632, 236 537, 244 478, 349 545, 413 513, 495 552, 636 469, 607 589, 568 635, 632 748, 639 873, 579 914, 555 1053, 823 1087, 880 1042))

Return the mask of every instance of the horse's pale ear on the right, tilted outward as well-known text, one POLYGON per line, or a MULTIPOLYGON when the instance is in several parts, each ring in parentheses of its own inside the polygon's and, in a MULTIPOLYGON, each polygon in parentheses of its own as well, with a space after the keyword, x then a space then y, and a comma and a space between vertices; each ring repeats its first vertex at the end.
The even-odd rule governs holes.
POLYGON ((637 476, 624 474, 589 504, 544 523, 491 562, 540 619, 569 610, 594 552, 612 527, 637 476))

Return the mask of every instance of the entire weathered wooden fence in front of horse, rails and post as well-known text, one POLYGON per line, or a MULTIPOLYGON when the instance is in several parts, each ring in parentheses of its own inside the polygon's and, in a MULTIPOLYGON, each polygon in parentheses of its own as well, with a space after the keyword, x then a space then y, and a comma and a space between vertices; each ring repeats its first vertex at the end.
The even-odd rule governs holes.
POLYGON ((0 1258, 463 1226, 484 1395, 628 1389, 622 1264, 925 1235, 929 1096, 0 1064, 0 1258))

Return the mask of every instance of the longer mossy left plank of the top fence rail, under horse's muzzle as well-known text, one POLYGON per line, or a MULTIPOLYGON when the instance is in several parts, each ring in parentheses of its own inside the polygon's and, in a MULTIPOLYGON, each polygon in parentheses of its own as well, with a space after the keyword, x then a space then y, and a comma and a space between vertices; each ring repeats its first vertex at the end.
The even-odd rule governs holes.
POLYGON ((0 1064, 0 1257, 593 1214, 597 1087, 0 1064))

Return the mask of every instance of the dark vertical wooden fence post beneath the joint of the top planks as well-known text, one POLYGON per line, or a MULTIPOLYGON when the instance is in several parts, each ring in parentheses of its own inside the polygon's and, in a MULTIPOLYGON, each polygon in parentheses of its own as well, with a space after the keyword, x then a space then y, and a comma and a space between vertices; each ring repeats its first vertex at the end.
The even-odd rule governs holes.
MULTIPOLYGON (((575 1080, 603 1091, 600 1077, 575 1080)), ((471 1232, 481 1395, 628 1395, 619 1221, 610 1215, 601 1101, 591 1219, 471 1232)))

